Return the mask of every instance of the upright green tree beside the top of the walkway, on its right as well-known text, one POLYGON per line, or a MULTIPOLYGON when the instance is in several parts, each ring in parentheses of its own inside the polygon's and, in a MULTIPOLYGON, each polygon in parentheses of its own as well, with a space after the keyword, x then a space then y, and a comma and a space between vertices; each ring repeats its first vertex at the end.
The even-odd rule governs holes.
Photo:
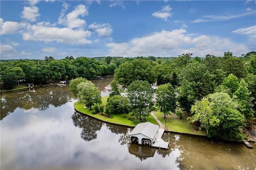
POLYGON ((164 118, 170 113, 175 113, 176 93, 170 83, 158 86, 156 89, 156 106, 164 113, 164 118))

